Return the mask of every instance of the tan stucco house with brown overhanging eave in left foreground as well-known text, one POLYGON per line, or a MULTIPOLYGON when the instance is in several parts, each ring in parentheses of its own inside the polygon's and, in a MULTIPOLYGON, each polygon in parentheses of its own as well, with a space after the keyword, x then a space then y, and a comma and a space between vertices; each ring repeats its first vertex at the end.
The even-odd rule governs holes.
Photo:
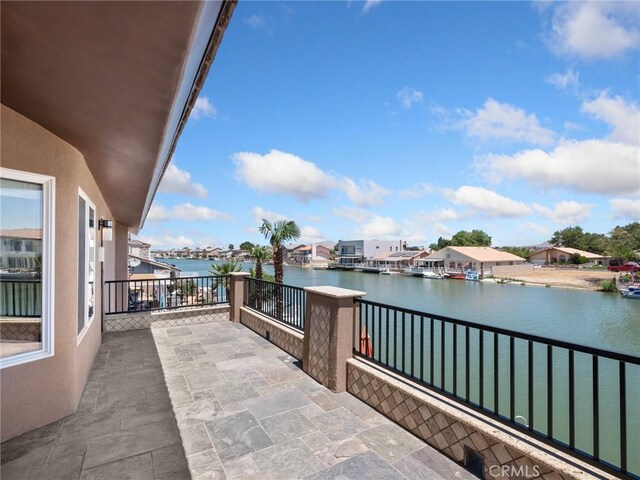
MULTIPOLYGON (((2 322, 24 313, 33 330, 0 341, 2 440, 78 407, 101 343, 100 286, 127 279, 129 233, 143 225, 234 6, 2 2, 3 269, 28 266, 41 292, 27 312, 1 299, 2 322)), ((3 289, 12 281, 2 274, 3 289)))

